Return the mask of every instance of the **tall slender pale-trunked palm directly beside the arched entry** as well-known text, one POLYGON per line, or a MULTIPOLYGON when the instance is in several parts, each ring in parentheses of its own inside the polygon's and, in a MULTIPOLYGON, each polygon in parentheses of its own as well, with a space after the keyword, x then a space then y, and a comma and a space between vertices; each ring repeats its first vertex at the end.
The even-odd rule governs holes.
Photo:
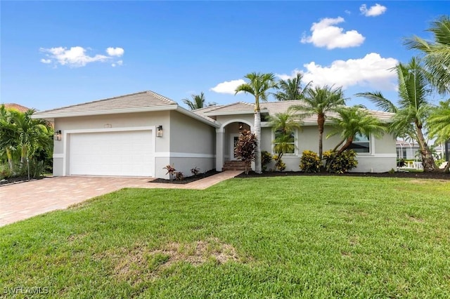
MULTIPOLYGON (((257 73, 252 72, 246 74, 245 79, 248 79, 247 83, 240 84, 236 88, 236 93, 243 91, 244 93, 250 93, 255 96, 255 135, 257 138, 257 147, 255 150, 255 172, 261 173, 261 108, 259 107, 259 100, 266 101, 268 91, 271 88, 276 87, 275 75, 272 73, 257 73)), ((235 95, 236 95, 235 93, 235 95)))

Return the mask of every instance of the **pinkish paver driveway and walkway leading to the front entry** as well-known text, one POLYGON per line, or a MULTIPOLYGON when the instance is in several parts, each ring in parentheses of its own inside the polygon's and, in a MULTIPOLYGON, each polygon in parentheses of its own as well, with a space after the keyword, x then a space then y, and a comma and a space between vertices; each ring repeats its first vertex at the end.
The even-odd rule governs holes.
POLYGON ((49 211, 68 208, 92 197, 133 188, 204 190, 242 171, 224 171, 188 184, 151 182, 153 178, 65 176, 0 186, 0 226, 49 211))

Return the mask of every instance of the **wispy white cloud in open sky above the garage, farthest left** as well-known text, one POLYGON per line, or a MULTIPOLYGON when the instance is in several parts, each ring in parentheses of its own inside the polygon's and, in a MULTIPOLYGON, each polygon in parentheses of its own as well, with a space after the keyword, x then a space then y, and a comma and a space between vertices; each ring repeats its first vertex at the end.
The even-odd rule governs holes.
MULTIPOLYGON (((122 48, 107 48, 106 52, 113 55, 101 55, 96 54, 90 56, 86 53, 87 49, 75 46, 71 48, 56 47, 56 48, 40 48, 39 51, 45 53, 46 58, 41 59, 42 63, 54 65, 68 65, 69 67, 84 67, 91 62, 110 62, 114 60, 113 56, 121 56, 124 53, 122 48)), ((113 62, 113 67, 115 65, 122 65, 123 61, 119 60, 113 62)))

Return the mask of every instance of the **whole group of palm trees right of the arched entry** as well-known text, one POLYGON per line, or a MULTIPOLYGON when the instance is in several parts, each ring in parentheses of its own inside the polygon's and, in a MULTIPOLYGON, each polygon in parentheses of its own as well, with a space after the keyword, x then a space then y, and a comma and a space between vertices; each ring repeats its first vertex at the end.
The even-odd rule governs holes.
MULTIPOLYGON (((379 91, 358 93, 356 96, 368 98, 385 112, 391 112, 394 117, 392 124, 387 126, 373 117, 364 107, 345 106, 342 88, 333 86, 311 87, 311 82, 302 88, 302 74, 287 80, 276 81, 272 73, 252 72, 245 75, 247 82, 236 88, 236 93, 244 92, 255 96, 255 135, 257 150, 255 150, 255 172, 261 173, 259 136, 261 135, 261 109, 259 100, 266 101, 269 94, 276 100, 302 100, 300 105, 290 107, 290 112, 301 112, 301 117, 317 117, 319 127, 319 157, 323 155, 323 131, 328 112, 337 112, 339 117, 330 119, 335 128, 331 135, 340 134, 340 142, 335 150, 338 154, 348 150, 356 135, 382 135, 389 131, 397 137, 407 137, 417 140, 424 171, 435 171, 437 166, 428 147, 425 135, 438 142, 450 140, 450 99, 442 101, 439 107, 431 105, 430 95, 433 90, 441 95, 450 91, 450 18, 443 16, 431 23, 429 29, 435 36, 435 41, 429 42, 414 36, 407 39, 409 48, 422 51, 423 58, 412 58, 408 63, 399 63, 394 70, 397 72, 399 86, 398 105, 387 100, 379 91), (274 89, 276 92, 270 93, 274 89), (338 150, 338 147, 340 149, 338 150)), ((235 94, 236 94, 235 93, 235 94)), ((292 126, 289 119, 292 114, 278 114, 271 119, 272 126, 284 134, 278 135, 274 143, 278 152, 289 151, 292 143, 290 136, 292 126), (284 131, 283 129, 284 128, 284 131), (289 148, 288 148, 289 147, 289 148)), ((450 163, 448 164, 448 166, 450 163)), ((446 171, 449 170, 447 166, 446 171)))

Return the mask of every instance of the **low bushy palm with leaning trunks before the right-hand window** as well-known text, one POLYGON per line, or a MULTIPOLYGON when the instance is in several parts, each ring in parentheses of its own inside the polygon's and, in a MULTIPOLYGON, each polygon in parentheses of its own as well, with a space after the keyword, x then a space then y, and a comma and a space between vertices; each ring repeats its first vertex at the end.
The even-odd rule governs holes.
POLYGON ((342 137, 342 141, 333 150, 333 152, 338 150, 338 147, 342 145, 337 156, 352 145, 356 135, 370 138, 373 134, 379 138, 387 131, 387 126, 380 119, 361 106, 340 107, 337 111, 339 117, 331 118, 333 130, 327 135, 327 138, 338 134, 342 137))

